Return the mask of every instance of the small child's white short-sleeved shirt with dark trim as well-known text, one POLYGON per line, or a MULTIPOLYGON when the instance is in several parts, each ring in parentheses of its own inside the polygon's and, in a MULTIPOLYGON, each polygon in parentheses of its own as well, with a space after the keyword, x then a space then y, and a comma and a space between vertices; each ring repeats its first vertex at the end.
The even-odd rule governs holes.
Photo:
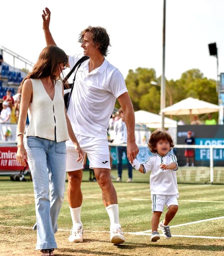
POLYGON ((177 187, 177 167, 174 170, 162 170, 160 164, 177 164, 177 157, 171 153, 165 156, 159 154, 150 156, 148 160, 141 164, 144 173, 152 171, 150 174, 150 190, 151 195, 175 195, 178 194, 177 187))

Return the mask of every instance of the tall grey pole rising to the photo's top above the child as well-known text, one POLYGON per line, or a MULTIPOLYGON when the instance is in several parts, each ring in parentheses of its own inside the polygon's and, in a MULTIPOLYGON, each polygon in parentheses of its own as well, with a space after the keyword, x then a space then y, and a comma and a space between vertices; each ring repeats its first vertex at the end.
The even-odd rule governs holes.
MULTIPOLYGON (((162 68, 162 79, 161 79, 161 90, 160 90, 160 111, 165 108, 166 94, 165 94, 165 35, 166 35, 166 0, 163 1, 163 68, 162 68)), ((161 112, 161 129, 164 130, 164 113, 161 112)))

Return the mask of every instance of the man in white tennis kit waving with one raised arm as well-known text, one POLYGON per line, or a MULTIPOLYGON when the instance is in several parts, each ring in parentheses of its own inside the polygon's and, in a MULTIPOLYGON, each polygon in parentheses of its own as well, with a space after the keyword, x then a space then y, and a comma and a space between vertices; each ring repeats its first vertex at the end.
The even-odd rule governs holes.
MULTIPOLYGON (((50 11, 45 8, 43 29, 47 45, 56 45, 49 30, 50 11)), ((115 188, 110 177, 110 159, 107 128, 116 98, 124 111, 127 126, 127 155, 132 162, 139 149, 135 143, 134 111, 124 78, 117 68, 106 59, 109 36, 104 28, 88 27, 79 37, 84 55, 90 59, 82 63, 76 73, 74 90, 68 108, 68 117, 80 146, 87 153, 90 168, 94 169, 102 190, 103 203, 110 218, 110 241, 122 244, 125 241, 119 223, 115 188), (128 117, 128 118, 127 118, 128 117)), ((68 56, 67 66, 72 68, 82 55, 68 56)), ((67 142, 68 202, 73 222, 70 242, 83 242, 81 222, 82 205, 82 163, 76 163, 76 152, 71 141, 67 142)))

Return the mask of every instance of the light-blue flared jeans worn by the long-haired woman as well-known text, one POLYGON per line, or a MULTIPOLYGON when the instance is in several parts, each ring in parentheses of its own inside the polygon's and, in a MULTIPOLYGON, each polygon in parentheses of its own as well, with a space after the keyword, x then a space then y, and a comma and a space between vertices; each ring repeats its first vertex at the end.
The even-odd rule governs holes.
POLYGON ((65 192, 65 141, 28 136, 25 148, 34 186, 36 250, 57 248, 54 234, 65 192))

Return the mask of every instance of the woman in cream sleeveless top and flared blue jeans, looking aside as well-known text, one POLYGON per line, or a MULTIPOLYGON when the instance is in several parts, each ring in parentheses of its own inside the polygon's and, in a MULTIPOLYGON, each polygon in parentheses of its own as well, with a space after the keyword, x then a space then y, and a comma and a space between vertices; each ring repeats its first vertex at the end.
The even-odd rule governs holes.
POLYGON ((54 233, 57 232, 57 219, 64 198, 65 141, 69 137, 78 153, 76 161, 82 161, 84 157, 66 114, 63 86, 58 80, 66 64, 64 51, 57 46, 47 46, 21 84, 17 161, 26 166, 24 157, 27 158, 32 173, 37 222, 36 250, 40 249, 42 256, 53 256, 53 250, 57 248, 54 233), (24 147, 27 112, 30 124, 24 147))

